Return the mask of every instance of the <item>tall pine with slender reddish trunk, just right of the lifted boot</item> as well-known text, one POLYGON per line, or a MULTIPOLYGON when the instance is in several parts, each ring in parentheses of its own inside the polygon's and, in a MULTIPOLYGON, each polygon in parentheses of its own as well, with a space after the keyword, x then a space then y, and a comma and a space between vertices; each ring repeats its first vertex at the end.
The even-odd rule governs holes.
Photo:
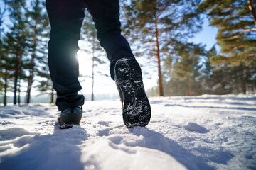
POLYGON ((139 41, 137 47, 141 55, 156 59, 160 96, 164 96, 162 60, 176 42, 186 41, 201 29, 197 4, 198 1, 193 0, 132 0, 124 4, 127 18, 124 31, 132 40, 139 41))

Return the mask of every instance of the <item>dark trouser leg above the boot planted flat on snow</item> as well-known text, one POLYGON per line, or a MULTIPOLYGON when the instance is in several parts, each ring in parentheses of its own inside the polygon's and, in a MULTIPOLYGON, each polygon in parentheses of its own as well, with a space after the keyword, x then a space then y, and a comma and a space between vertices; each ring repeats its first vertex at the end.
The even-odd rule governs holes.
POLYGON ((57 91, 56 105, 60 111, 82 106, 84 96, 78 81, 78 40, 84 18, 83 0, 46 0, 50 19, 48 64, 53 87, 57 91))

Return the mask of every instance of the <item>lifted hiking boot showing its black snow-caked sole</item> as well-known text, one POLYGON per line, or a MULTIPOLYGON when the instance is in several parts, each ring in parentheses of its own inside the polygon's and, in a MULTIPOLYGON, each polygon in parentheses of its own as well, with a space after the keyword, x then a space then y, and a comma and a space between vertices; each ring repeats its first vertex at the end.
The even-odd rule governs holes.
POLYGON ((122 115, 127 128, 146 126, 151 108, 142 82, 142 70, 133 58, 122 58, 114 66, 114 80, 122 102, 122 115))

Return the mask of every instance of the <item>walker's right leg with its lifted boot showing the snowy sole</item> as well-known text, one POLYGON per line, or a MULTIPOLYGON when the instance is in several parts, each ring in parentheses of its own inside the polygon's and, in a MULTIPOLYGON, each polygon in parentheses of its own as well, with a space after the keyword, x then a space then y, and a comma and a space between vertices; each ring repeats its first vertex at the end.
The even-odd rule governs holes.
POLYGON ((110 60, 110 74, 116 81, 122 101, 122 115, 127 128, 145 126, 151 108, 142 82, 142 71, 121 35, 118 0, 85 0, 92 14, 100 45, 110 60))

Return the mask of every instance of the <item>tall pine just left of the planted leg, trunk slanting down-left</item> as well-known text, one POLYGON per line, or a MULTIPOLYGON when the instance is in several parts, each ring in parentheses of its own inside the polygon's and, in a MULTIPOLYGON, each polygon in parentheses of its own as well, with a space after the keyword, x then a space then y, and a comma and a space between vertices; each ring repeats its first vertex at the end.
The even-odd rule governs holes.
POLYGON ((43 11, 43 1, 33 0, 30 4, 30 9, 26 11, 26 18, 28 18, 29 30, 30 30, 30 50, 31 58, 28 58, 28 64, 26 65, 28 75, 28 88, 26 103, 30 103, 31 88, 33 85, 33 78, 37 72, 37 67, 40 67, 42 60, 46 60, 46 35, 48 35, 48 17, 46 11, 43 11))

